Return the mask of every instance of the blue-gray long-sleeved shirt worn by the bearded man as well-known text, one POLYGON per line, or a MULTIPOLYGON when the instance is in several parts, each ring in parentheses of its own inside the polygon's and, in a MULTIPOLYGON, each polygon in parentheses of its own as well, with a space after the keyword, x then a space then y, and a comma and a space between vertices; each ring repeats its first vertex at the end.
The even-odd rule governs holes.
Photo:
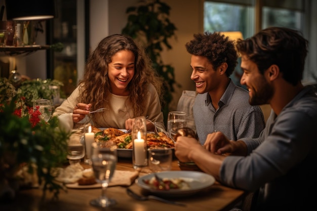
POLYGON ((249 156, 227 156, 222 183, 260 188, 256 210, 315 210, 317 190, 317 96, 306 87, 276 116, 272 111, 257 139, 245 138, 249 156))

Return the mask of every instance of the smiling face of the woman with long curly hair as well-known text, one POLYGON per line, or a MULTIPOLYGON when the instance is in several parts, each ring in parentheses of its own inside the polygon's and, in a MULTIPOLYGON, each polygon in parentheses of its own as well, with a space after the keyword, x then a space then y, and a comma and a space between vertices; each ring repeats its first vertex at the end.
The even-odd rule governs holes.
POLYGON ((114 95, 128 96, 128 84, 132 80, 135 71, 135 56, 131 51, 118 51, 108 64, 108 77, 111 93, 114 95))

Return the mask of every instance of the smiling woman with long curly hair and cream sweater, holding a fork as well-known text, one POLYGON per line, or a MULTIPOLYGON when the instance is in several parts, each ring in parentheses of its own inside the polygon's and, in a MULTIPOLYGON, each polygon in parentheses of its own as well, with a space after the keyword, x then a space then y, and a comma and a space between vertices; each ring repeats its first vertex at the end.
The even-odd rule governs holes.
POLYGON ((154 130, 152 122, 165 129, 162 85, 143 48, 129 36, 109 35, 90 54, 84 78, 54 115, 72 113, 74 123, 127 130, 135 117, 147 116, 148 131, 154 130))

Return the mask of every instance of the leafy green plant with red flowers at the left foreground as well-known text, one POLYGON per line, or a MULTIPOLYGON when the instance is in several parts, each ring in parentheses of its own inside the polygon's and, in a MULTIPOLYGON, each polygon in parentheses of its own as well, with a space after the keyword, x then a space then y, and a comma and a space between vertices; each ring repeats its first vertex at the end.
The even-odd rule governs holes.
MULTIPOLYGON (((0 78, 0 201, 12 199, 22 180, 18 175, 26 169, 43 189, 58 198, 63 184, 55 181, 57 167, 67 155, 70 134, 59 128, 57 117, 48 122, 39 119, 7 78, 0 78)), ((25 184, 24 184, 25 185, 25 184)))

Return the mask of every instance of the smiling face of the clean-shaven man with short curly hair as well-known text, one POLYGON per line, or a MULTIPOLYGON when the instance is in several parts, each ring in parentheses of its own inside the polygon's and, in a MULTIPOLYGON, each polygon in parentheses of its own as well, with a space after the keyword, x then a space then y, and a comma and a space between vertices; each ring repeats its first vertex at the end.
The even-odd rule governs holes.
POLYGON ((190 66, 192 68, 190 79, 195 82, 197 93, 209 93, 218 89, 222 74, 213 68, 207 57, 192 55, 190 66))

